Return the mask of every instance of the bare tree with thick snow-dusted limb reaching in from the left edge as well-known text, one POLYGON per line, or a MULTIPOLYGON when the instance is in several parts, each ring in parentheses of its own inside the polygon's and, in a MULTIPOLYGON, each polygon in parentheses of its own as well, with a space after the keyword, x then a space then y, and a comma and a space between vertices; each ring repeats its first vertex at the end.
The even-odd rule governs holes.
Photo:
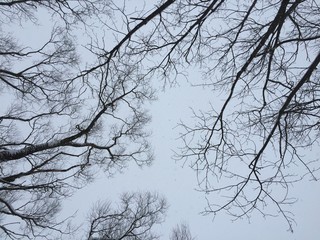
POLYGON ((55 218, 61 200, 98 169, 113 174, 131 161, 143 166, 153 159, 143 108, 153 90, 140 65, 120 53, 130 35, 108 53, 96 35, 87 37, 90 62, 81 61, 85 50, 73 37, 79 29, 88 36, 92 18, 108 19, 113 7, 108 1, 0 3, 1 238, 69 233, 55 218), (12 30, 41 24, 41 11, 51 14, 47 40, 36 47, 19 41, 12 30))

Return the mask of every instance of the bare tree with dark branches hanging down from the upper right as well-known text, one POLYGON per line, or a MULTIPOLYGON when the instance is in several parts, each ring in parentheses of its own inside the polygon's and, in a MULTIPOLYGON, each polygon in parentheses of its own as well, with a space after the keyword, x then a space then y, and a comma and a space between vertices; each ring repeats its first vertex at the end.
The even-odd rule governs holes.
POLYGON ((205 212, 280 214, 292 229, 290 186, 318 178, 319 3, 181 0, 162 16, 163 42, 149 48, 166 50, 161 69, 194 66, 203 80, 190 81, 213 91, 194 125, 180 124, 177 153, 197 172, 205 212))

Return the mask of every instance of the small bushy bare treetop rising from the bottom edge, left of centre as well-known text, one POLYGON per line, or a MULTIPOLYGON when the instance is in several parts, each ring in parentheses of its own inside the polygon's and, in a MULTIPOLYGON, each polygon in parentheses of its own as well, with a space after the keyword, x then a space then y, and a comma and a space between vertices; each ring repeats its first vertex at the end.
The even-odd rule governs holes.
POLYGON ((88 240, 158 239, 155 224, 164 221, 167 203, 150 192, 125 193, 116 209, 99 203, 91 211, 88 240))

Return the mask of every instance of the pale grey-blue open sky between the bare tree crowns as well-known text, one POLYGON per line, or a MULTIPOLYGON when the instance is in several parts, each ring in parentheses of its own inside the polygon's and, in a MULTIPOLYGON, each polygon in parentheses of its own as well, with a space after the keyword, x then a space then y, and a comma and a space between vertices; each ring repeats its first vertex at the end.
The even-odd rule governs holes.
MULTIPOLYGON (((30 32, 29 29, 25 31, 30 32)), ((31 42, 34 40, 32 34, 25 37, 31 42)), ((193 77, 201 76, 195 72, 193 77)), ((150 142, 155 156, 152 166, 141 169, 131 164, 123 173, 117 173, 112 178, 100 173, 93 183, 64 202, 61 217, 77 212, 75 222, 81 223, 98 200, 117 202, 124 192, 151 191, 163 195, 169 204, 166 221, 157 227, 161 239, 169 239, 170 231, 176 224, 187 223, 198 240, 318 240, 320 188, 319 183, 307 178, 291 187, 291 195, 298 199, 290 207, 296 220, 293 233, 288 231, 282 217, 263 218, 254 214, 250 220, 232 221, 224 213, 215 218, 201 214, 206 201, 204 193, 197 191, 195 172, 188 163, 176 162, 173 155, 179 146, 177 123, 191 116, 191 107, 199 109, 207 105, 213 93, 210 89, 191 87, 190 83, 181 81, 179 86, 160 90, 158 99, 148 106, 152 116, 150 142)), ((315 154, 316 151, 305 153, 310 157, 316 157, 315 154)), ((84 228, 80 229, 79 235, 84 231, 84 228)))

